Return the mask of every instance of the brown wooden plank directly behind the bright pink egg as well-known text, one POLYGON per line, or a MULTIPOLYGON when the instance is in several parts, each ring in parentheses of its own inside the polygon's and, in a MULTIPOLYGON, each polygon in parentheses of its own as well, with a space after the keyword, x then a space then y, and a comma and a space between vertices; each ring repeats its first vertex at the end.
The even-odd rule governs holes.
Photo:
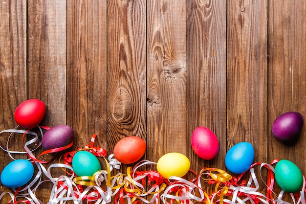
POLYGON ((215 159, 197 157, 190 145, 188 156, 197 173, 204 167, 225 170, 226 2, 188 1, 187 11, 187 138, 189 141, 194 129, 204 126, 219 140, 215 159))

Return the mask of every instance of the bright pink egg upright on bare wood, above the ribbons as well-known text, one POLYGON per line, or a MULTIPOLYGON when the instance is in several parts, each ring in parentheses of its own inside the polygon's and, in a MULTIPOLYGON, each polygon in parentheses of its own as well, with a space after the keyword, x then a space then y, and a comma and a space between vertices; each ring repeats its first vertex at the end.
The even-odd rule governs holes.
POLYGON ((208 128, 197 127, 191 136, 191 146, 201 159, 213 159, 219 152, 217 136, 208 128))

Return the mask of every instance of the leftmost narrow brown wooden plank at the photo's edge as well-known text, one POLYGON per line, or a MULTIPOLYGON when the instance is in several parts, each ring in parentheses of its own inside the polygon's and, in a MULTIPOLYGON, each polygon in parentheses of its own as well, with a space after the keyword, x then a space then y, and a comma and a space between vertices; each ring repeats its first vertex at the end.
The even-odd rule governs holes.
MULTIPOLYGON (((0 3, 0 130, 16 127, 14 112, 27 99, 26 86, 26 2, 3 0, 0 3)), ((8 134, 1 134, 1 146, 5 147, 8 134)), ((12 136, 10 150, 22 151, 21 136, 12 136)), ((13 155, 15 159, 26 158, 13 155)), ((0 173, 13 161, 7 153, 0 151, 0 173)), ((0 192, 12 192, 0 185, 0 192)), ((8 197, 1 203, 9 202, 8 197)))

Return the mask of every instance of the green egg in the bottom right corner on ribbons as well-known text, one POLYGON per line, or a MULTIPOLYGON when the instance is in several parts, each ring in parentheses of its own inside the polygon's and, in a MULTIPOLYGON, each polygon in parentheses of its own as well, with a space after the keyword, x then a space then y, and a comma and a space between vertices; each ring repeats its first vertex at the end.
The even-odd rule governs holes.
POLYGON ((275 165, 275 180, 288 193, 301 190, 303 175, 299 167, 292 161, 282 159, 275 165))

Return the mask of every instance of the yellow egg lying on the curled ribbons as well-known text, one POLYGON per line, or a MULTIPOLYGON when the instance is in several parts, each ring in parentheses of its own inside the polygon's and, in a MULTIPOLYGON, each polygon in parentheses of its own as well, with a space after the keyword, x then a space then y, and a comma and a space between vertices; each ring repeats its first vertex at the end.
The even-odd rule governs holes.
POLYGON ((183 154, 172 152, 163 155, 157 161, 156 168, 165 179, 171 176, 182 177, 189 171, 190 160, 183 154))

